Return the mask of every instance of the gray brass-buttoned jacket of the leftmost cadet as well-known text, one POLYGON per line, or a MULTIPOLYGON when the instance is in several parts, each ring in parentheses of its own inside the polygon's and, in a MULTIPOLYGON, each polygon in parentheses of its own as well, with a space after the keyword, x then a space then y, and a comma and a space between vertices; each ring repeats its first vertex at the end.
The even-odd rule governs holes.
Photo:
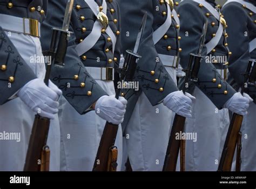
MULTIPOLYGON (((3 0, 0 1, 0 14, 32 18, 42 22, 45 19, 47 4, 47 0, 3 0), (38 7, 41 8, 40 11, 35 9, 38 7)), ((22 86, 30 80, 35 79, 36 75, 29 68, 28 63, 24 62, 8 36, 5 35, 1 27, 1 22, 0 57, 0 104, 2 105, 6 103, 11 96, 15 95, 22 86)))

